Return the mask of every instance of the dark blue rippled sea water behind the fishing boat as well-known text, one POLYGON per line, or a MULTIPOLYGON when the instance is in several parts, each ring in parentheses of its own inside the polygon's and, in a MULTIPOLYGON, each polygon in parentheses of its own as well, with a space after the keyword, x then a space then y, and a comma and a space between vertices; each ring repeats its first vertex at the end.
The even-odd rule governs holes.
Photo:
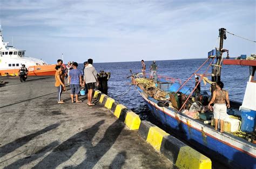
MULTIPOLYGON (((142 58, 144 59, 144 58, 142 58)), ((205 62, 205 59, 184 59, 184 60, 159 60, 156 61, 158 66, 157 74, 179 78, 182 82, 185 82, 198 67, 205 62)), ((150 73, 150 65, 152 61, 145 61, 146 73, 150 73)), ((198 73, 204 73, 210 62, 198 73)), ((134 86, 131 86, 129 78, 131 75, 130 70, 133 73, 142 72, 141 62, 117 62, 117 63, 95 63, 93 64, 99 72, 104 70, 105 72, 111 72, 111 78, 109 79, 108 95, 119 103, 132 109, 134 112, 140 115, 142 119, 147 119, 149 110, 146 107, 142 97, 134 86)), ((83 68, 83 64, 79 64, 80 69, 83 68)), ((208 70, 208 78, 211 80, 211 67, 208 70)), ((245 88, 250 76, 248 66, 239 65, 223 65, 221 70, 221 81, 224 83, 224 89, 228 91, 231 100, 242 102, 244 98, 245 88)), ((187 83, 188 86, 194 86, 195 80, 191 80, 187 83)), ((201 82, 201 91, 206 91, 210 94, 210 84, 204 85, 201 82)))

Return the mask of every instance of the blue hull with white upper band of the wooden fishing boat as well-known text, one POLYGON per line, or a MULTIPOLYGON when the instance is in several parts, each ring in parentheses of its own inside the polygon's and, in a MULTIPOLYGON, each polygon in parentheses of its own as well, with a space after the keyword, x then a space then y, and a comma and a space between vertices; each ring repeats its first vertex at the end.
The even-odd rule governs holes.
POLYGON ((213 127, 169 107, 159 107, 157 100, 146 97, 139 87, 138 90, 153 116, 177 137, 225 165, 234 168, 256 168, 256 147, 252 143, 228 133, 215 131, 213 127))

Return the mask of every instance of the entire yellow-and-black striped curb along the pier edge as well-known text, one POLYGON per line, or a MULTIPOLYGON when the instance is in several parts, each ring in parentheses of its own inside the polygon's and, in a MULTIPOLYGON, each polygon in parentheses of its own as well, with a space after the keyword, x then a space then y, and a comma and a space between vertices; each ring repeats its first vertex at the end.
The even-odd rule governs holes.
POLYGON ((93 97, 97 98, 114 116, 123 121, 130 130, 138 130, 140 136, 147 143, 173 161, 178 168, 211 168, 212 161, 210 158, 187 146, 149 121, 141 121, 139 116, 127 109, 126 106, 119 104, 98 90, 95 90, 93 97))

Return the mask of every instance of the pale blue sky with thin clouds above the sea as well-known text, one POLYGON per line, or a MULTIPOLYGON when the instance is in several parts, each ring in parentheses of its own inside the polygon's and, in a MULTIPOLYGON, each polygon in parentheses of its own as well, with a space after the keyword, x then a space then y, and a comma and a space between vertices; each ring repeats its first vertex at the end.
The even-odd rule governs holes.
MULTIPOLYGON (((256 40, 256 1, 1 0, 4 42, 49 64, 207 58, 219 28, 256 40), (13 39, 13 40, 12 40, 13 39)), ((227 34, 231 57, 256 43, 227 34)))

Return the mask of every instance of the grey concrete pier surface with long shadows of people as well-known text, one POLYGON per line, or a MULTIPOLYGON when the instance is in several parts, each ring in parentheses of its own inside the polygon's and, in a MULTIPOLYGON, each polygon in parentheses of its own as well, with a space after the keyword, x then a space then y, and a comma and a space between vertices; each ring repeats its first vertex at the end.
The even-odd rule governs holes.
POLYGON ((57 104, 53 77, 0 87, 0 168, 174 168, 102 104, 57 104))

